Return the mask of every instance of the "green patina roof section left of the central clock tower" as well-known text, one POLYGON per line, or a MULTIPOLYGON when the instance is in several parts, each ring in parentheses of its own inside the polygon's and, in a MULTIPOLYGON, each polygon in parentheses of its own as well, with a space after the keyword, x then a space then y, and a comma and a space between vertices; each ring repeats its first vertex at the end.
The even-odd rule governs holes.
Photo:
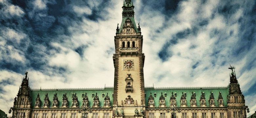
POLYGON ((108 96, 110 98, 110 105, 113 105, 113 88, 90 88, 90 89, 86 89, 86 88, 81 88, 81 89, 32 89, 30 92, 30 95, 32 97, 32 107, 34 108, 35 105, 35 99, 37 97, 37 94, 39 93, 40 95, 40 100, 41 100, 41 107, 43 107, 43 103, 44 103, 44 98, 45 95, 48 93, 48 97, 50 100, 50 104, 49 106, 52 107, 53 105, 53 95, 55 93, 57 93, 57 97, 59 100, 58 106, 60 107, 62 105, 62 96, 63 94, 67 93, 67 97, 68 97, 68 106, 70 107, 72 105, 72 94, 76 93, 76 96, 78 98, 78 107, 81 107, 82 105, 82 94, 87 93, 88 99, 89 99, 89 107, 91 107, 93 105, 93 98, 92 94, 94 94, 94 96, 97 93, 97 96, 99 98, 99 106, 102 107, 104 104, 104 98, 108 93, 108 96), (102 97, 102 94, 104 93, 104 97, 102 97))

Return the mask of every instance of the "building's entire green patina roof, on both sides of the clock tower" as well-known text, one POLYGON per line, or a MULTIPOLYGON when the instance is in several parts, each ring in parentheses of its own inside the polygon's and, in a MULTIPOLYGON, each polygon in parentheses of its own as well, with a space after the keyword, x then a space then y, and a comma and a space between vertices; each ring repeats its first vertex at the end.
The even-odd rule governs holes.
MULTIPOLYGON (((200 107, 200 97, 202 95, 202 92, 204 92, 205 95, 205 100, 206 100, 206 106, 209 107, 209 97, 210 97, 210 93, 213 92, 214 95, 214 99, 215 99, 215 105, 216 107, 218 106, 218 97, 219 97, 219 92, 221 92, 222 97, 223 97, 223 102, 224 102, 224 106, 227 106, 227 98, 226 96, 228 95, 228 87, 208 87, 208 88, 153 88, 153 87, 146 87, 145 88, 145 103, 146 105, 148 104, 148 97, 150 96, 150 92, 152 93, 152 95, 154 96, 154 94, 156 93, 156 97, 154 97, 154 101, 155 101, 155 107, 159 106, 159 98, 161 96, 161 92, 166 93, 166 97, 165 97, 165 103, 166 106, 169 107, 170 106, 170 97, 173 93, 176 93, 176 103, 177 106, 179 107, 181 105, 181 95, 182 92, 186 93, 186 100, 187 100, 187 106, 190 106, 190 97, 192 95, 192 92, 196 93, 196 101, 197 101, 197 106, 200 107)), ((40 95, 40 99, 41 99, 41 107, 43 107, 43 102, 44 102, 44 98, 45 95, 48 93, 48 97, 50 100, 50 107, 52 106, 53 103, 53 95, 55 93, 57 93, 57 97, 59 100, 59 104, 58 106, 61 107, 62 105, 62 96, 63 94, 67 93, 67 97, 68 97, 68 106, 70 107, 72 105, 72 94, 76 93, 76 96, 78 98, 78 107, 81 107, 82 104, 82 94, 87 93, 87 96, 89 98, 89 107, 91 107, 93 105, 93 98, 92 94, 96 95, 99 97, 99 106, 102 107, 103 103, 104 103, 104 98, 108 93, 108 96, 110 97, 110 104, 111 106, 113 106, 113 91, 114 88, 81 88, 81 89, 32 89, 31 90, 31 97, 32 97, 32 107, 34 107, 35 104, 35 99, 37 94, 39 93, 40 95), (105 94, 104 97, 102 97, 102 94, 105 94)))

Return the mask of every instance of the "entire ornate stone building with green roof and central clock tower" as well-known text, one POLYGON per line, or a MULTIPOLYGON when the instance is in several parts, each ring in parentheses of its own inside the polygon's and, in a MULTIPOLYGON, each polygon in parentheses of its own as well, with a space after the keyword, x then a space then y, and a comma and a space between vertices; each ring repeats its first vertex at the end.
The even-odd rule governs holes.
POLYGON ((132 1, 125 0, 122 8, 122 22, 114 40, 114 88, 31 89, 26 72, 14 99, 15 117, 238 118, 246 114, 242 110, 244 95, 232 66, 227 87, 144 87, 143 36, 134 20, 132 1), (172 107, 177 107, 174 114, 172 107))

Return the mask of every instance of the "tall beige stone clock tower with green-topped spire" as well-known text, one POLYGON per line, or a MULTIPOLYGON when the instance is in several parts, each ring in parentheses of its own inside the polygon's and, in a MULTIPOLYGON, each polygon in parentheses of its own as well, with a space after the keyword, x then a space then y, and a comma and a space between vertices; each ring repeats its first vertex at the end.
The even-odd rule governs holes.
POLYGON ((134 20, 131 0, 124 0, 122 22, 117 24, 116 53, 113 56, 114 99, 113 117, 145 117, 145 91, 142 53, 143 38, 134 20), (114 115, 115 114, 115 115, 114 115))

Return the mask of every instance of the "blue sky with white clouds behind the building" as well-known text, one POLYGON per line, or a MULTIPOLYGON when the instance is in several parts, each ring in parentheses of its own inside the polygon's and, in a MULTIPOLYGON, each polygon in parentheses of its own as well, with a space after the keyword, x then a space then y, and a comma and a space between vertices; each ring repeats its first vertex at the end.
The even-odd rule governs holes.
MULTIPOLYGON (((29 72, 31 88, 113 87, 122 0, 0 0, 0 109, 29 72)), ((256 110, 254 0, 134 0, 145 86, 216 87, 229 64, 256 110)))

